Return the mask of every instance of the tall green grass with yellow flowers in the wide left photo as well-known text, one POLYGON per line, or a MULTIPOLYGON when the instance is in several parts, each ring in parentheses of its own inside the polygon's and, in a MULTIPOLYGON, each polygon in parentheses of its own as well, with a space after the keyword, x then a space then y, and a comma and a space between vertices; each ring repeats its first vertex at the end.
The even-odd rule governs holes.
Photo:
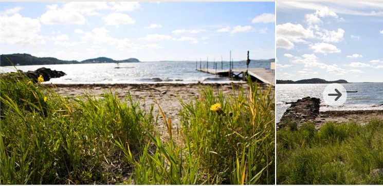
POLYGON ((271 89, 201 89, 179 100, 181 128, 163 139, 154 126, 171 120, 153 117, 166 110, 158 103, 144 110, 112 90, 63 97, 27 78, 0 80, 1 184, 274 184, 271 89), (216 102, 225 115, 210 110, 216 102))

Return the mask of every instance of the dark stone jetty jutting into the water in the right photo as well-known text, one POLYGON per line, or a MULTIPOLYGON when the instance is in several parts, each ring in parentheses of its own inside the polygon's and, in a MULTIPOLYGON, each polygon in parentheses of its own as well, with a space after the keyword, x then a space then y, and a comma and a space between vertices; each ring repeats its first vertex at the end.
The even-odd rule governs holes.
POLYGON ((278 128, 284 127, 287 122, 296 122, 300 125, 303 122, 314 121, 319 115, 319 98, 307 96, 286 104, 291 104, 291 106, 277 123, 278 128))

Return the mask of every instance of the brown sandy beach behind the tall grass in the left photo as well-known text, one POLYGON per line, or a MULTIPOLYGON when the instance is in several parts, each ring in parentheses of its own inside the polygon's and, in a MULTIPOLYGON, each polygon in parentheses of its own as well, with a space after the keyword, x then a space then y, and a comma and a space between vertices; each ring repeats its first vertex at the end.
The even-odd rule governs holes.
MULTIPOLYGON (((151 105, 154 105, 154 115, 159 114, 159 110, 155 105, 152 94, 155 96, 162 111, 167 118, 172 120, 172 128, 174 130, 179 127, 179 110, 181 103, 179 99, 184 102, 189 102, 194 98, 199 97, 199 91, 204 87, 211 87, 214 93, 223 91, 225 95, 232 94, 232 86, 234 89, 239 87, 246 88, 246 82, 235 82, 234 84, 45 84, 48 87, 54 88, 62 96, 81 96, 84 94, 91 94, 102 96, 105 92, 112 90, 121 100, 126 98, 130 93, 134 101, 139 101, 141 109, 149 110, 151 105)), ((246 90, 246 89, 245 89, 246 90)), ((160 116, 160 115, 159 115, 160 116)), ((161 119, 159 117, 159 119, 161 119)), ((162 122, 159 122, 162 123, 162 122)), ((167 136, 167 128, 165 125, 160 124, 157 126, 161 136, 167 136)))

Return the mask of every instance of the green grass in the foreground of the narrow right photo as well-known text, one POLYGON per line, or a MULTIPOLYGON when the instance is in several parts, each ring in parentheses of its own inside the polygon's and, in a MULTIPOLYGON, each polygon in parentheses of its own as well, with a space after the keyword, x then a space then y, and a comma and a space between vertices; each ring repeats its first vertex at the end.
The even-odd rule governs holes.
POLYGON ((277 131, 277 184, 383 184, 383 120, 277 131))

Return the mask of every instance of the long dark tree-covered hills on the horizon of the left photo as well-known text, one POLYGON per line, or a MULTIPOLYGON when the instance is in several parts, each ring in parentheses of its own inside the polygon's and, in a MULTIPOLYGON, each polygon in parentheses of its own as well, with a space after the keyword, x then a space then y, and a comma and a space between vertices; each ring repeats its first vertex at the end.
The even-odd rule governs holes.
POLYGON ((86 59, 83 61, 77 60, 60 60, 54 57, 35 57, 30 54, 2 54, 0 56, 0 66, 12 66, 7 58, 13 65, 58 65, 58 64, 92 64, 92 63, 136 63, 140 62, 136 58, 129 58, 124 60, 114 60, 107 57, 98 57, 93 59, 86 59))

